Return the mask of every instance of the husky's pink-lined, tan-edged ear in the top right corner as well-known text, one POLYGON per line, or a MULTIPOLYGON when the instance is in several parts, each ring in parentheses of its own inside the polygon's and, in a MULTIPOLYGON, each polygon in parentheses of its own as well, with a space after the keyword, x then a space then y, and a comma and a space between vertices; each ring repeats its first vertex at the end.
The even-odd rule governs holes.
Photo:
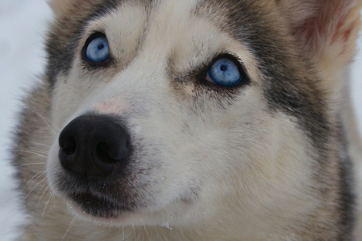
POLYGON ((326 71, 350 63, 362 0, 276 0, 300 46, 326 71))

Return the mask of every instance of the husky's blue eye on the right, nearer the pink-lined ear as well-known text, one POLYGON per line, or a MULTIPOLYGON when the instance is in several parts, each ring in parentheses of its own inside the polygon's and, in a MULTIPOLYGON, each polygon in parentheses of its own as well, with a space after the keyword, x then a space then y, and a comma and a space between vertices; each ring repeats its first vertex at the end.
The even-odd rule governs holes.
POLYGON ((239 66, 235 61, 229 58, 216 60, 207 71, 206 80, 221 85, 235 86, 243 79, 239 66))

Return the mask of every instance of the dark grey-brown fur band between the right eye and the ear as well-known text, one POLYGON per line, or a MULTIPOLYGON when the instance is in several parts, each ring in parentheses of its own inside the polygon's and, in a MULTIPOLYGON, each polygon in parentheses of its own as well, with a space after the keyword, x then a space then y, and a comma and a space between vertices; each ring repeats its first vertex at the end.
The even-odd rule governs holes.
MULTIPOLYGON (((313 144, 317 145, 317 149, 323 150, 327 141, 323 134, 329 132, 329 123, 325 113, 326 103, 323 100, 325 93, 317 87, 320 79, 313 70, 314 66, 307 59, 303 59, 303 55, 291 54, 283 44, 288 40, 283 41, 285 36, 279 33, 277 23, 253 3, 213 0, 200 3, 199 8, 202 8, 203 4, 222 4, 222 9, 228 9, 213 14, 224 14, 223 19, 226 22, 220 27, 253 52, 262 72, 260 77, 264 79, 263 88, 270 110, 282 111, 296 117, 300 127, 308 133, 313 144), (298 58, 303 59, 298 61, 302 66, 294 65, 298 58), (308 72, 301 75, 298 68, 307 69, 308 72)), ((298 51, 295 50, 296 53, 298 51)))

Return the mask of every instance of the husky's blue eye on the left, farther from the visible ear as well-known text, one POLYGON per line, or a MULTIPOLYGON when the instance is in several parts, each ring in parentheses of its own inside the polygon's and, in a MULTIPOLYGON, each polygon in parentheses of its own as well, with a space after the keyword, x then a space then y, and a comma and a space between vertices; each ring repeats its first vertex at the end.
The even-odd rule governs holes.
POLYGON ((101 63, 109 59, 108 41, 104 34, 90 37, 92 40, 85 46, 85 57, 93 63, 101 63), (98 36, 98 37, 97 37, 98 36))

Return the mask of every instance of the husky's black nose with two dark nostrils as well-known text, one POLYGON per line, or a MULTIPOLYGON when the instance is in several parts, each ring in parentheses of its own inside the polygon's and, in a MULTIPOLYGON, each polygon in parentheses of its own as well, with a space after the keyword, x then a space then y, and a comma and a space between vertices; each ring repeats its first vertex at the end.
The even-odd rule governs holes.
POLYGON ((82 115, 59 136, 59 160, 71 173, 102 178, 126 165, 130 137, 113 118, 82 115))

